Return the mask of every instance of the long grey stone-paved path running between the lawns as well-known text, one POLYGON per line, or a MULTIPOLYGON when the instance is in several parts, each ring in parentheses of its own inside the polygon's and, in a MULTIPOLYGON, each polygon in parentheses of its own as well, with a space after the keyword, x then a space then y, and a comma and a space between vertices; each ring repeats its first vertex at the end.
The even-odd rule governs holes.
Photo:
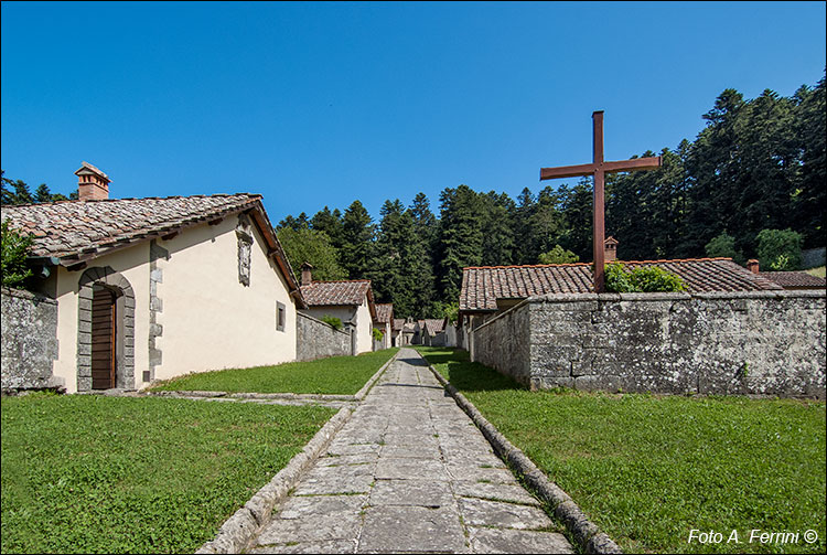
POLYGON ((402 349, 250 553, 573 553, 402 349))

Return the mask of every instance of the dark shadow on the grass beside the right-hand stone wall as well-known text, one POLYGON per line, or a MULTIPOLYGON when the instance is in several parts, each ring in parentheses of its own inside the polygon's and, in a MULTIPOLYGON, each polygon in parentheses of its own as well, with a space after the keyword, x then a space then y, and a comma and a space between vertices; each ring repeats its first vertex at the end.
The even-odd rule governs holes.
POLYGON ((512 377, 479 362, 470 362, 468 351, 461 349, 418 349, 428 362, 460 392, 525 391, 526 386, 512 377))

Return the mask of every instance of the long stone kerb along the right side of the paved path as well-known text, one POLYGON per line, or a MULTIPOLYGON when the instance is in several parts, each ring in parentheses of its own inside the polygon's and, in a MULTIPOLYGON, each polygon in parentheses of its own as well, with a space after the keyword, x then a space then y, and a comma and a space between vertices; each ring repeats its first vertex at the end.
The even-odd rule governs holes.
MULTIPOLYGON (((422 356, 420 354, 420 356, 422 356)), ((425 356, 422 356, 425 360, 425 356)), ((439 383, 445 388, 445 391, 453 397, 462 410, 469 415, 474 421, 480 431, 482 431, 485 439, 494 448, 494 451, 504 460, 508 466, 517 472, 526 483, 538 494, 538 497, 546 502, 555 513, 555 516, 563 523, 566 529, 571 533, 571 536, 580 545, 580 548, 586 553, 599 553, 599 554, 615 554, 623 553, 620 546, 609 537, 604 532, 601 532, 598 526, 589 520, 571 497, 566 493, 559 485, 550 481, 548 477, 526 457, 526 455, 508 441, 500 430, 497 430, 493 424, 491 424, 480 413, 480 410, 460 393, 450 382, 448 382, 442 374, 433 367, 427 360, 428 367, 431 370, 433 375, 437 377, 439 383)))

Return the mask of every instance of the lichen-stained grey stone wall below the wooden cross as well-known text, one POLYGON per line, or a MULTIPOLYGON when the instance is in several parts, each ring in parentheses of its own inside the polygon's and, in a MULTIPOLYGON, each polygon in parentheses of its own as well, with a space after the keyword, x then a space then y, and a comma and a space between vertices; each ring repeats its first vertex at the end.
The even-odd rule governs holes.
POLYGON ((549 295, 473 332, 533 388, 825 398, 825 292, 549 295))

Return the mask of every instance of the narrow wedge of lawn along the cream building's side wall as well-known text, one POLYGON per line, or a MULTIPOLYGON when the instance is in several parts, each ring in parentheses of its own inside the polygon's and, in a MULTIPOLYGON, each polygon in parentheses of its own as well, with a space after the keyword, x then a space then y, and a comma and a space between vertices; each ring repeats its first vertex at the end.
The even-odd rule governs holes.
POLYGON ((393 348, 358 356, 202 372, 163 382, 151 389, 354 395, 397 351, 398 348, 393 348))

